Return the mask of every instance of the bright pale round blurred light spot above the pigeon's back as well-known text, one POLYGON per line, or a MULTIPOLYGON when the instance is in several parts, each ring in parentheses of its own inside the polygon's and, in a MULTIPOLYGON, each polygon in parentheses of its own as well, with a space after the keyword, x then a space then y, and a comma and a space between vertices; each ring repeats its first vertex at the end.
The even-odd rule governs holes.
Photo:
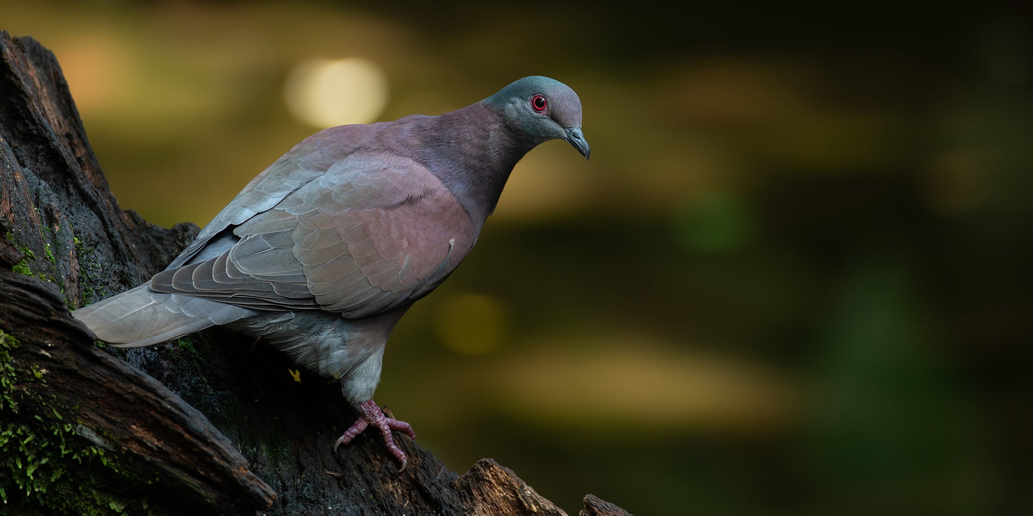
POLYGON ((387 103, 387 77, 361 58, 313 58, 287 76, 284 96, 290 111, 318 127, 369 124, 387 103))

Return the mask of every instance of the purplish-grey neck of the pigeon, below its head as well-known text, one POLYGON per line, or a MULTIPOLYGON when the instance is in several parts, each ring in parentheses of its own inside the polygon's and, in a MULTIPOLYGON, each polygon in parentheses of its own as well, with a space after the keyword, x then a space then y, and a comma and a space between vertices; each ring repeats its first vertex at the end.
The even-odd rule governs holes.
POLYGON ((506 127, 482 103, 414 120, 419 159, 479 226, 499 202, 509 173, 535 143, 506 127))

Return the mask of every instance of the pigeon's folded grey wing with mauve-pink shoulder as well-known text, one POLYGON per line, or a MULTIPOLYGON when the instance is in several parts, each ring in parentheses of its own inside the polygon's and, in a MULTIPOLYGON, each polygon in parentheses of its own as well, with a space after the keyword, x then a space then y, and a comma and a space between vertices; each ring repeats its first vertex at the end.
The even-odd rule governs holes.
MULTIPOLYGON (((209 240, 222 231, 239 240, 218 256, 158 273, 151 288, 249 309, 362 317, 433 290, 476 236, 451 193, 408 158, 353 153, 273 202, 277 195, 242 192, 238 199, 245 200, 216 218, 225 221, 221 228, 206 227, 209 240)), ((188 248, 174 263, 182 259, 188 248)))

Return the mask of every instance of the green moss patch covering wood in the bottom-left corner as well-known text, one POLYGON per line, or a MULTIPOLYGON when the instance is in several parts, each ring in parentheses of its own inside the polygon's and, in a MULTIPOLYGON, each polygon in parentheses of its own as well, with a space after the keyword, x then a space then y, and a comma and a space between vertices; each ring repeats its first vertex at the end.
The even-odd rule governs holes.
POLYGON ((39 394, 45 389, 33 384, 45 384, 48 372, 20 363, 19 347, 0 330, 0 513, 151 514, 145 498, 107 483, 153 480, 121 467, 121 453, 105 449, 101 438, 76 424, 72 409, 54 394, 39 394), (35 414, 23 410, 27 399, 35 414))

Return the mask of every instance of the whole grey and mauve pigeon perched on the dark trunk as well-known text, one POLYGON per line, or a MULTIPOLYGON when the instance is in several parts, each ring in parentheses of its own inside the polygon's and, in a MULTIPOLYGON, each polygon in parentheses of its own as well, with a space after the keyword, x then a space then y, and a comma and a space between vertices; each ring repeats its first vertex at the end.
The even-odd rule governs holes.
POLYGON ((516 162, 553 139, 589 158, 581 99, 544 76, 442 115, 323 129, 151 281, 72 316, 118 347, 216 325, 260 338, 340 380, 359 418, 335 451, 373 426, 403 471, 392 431, 415 433, 373 401, 387 338, 473 248, 516 162))

